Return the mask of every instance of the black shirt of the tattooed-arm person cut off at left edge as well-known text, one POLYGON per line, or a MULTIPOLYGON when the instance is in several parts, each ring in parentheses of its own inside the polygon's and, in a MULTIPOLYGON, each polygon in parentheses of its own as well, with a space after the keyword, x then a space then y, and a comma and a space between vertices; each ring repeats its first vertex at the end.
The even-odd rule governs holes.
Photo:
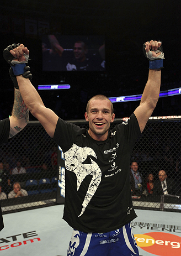
MULTIPOLYGON (((0 121, 0 145, 3 143, 8 142, 9 137, 9 129, 10 129, 10 122, 9 118, 0 121)), ((1 212, 1 203, 0 203, 0 231, 3 229, 3 217, 1 212)))

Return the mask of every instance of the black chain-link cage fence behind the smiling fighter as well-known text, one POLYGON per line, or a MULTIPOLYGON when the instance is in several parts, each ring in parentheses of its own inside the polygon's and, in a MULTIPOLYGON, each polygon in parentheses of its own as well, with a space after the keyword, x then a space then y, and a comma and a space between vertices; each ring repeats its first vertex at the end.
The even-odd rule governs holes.
MULTIPOLYGON (((135 208, 181 211, 181 129, 180 118, 151 118, 135 143, 130 159, 137 162, 142 175, 141 189, 132 191, 135 208), (158 191, 158 172, 167 174, 166 195, 158 191), (153 192, 148 190, 149 174, 153 175, 153 192), (169 181, 169 184, 168 184, 169 181)), ((86 121, 70 121, 88 129, 86 121)), ((123 122, 117 118, 111 129, 123 122)), ((45 207, 57 203, 57 145, 38 121, 29 122, 22 132, 0 148, 0 193, 3 214, 45 207), (3 167, 3 168, 2 168, 3 167), (21 168, 17 174, 17 169, 21 168), (25 190, 14 198, 13 184, 25 190), (26 193, 27 192, 27 193, 26 193)), ((18 169, 18 170, 19 170, 18 169)), ((59 195, 58 195, 59 196, 59 195)))

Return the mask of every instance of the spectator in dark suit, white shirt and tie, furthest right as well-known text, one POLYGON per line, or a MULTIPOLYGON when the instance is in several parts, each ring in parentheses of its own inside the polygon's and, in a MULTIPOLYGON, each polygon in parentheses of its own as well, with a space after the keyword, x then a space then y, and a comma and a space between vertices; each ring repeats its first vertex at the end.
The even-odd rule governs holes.
POLYGON ((166 171, 160 170, 158 173, 158 181, 155 181, 154 193, 158 195, 174 194, 175 185, 172 179, 167 179, 166 171))

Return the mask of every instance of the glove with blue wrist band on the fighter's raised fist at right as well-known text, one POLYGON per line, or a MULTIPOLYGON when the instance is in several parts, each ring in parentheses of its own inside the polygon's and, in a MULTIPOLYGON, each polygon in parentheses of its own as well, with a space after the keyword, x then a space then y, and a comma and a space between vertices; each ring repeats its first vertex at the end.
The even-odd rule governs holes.
MULTIPOLYGON (((159 41, 159 42, 161 42, 161 41, 159 41)), ((145 47, 146 47, 146 43, 143 44, 143 54, 150 61, 149 69, 162 69, 163 68, 163 59, 164 59, 162 44, 161 44, 161 46, 158 47, 158 49, 156 51, 152 50, 152 51, 155 51, 155 53, 161 52, 161 54, 157 57, 152 56, 152 51, 148 51, 148 53, 146 53, 145 47)))

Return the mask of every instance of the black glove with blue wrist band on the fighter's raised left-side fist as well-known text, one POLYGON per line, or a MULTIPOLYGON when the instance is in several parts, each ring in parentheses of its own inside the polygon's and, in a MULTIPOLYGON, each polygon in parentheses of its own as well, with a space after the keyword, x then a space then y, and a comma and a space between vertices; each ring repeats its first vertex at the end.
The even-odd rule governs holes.
POLYGON ((17 58, 14 58, 14 56, 11 53, 9 53, 9 51, 13 50, 14 48, 17 48, 19 45, 20 44, 9 45, 3 51, 3 57, 9 63, 9 65, 12 67, 14 75, 22 75, 25 72, 24 67, 26 66, 26 63, 28 63, 28 58, 29 58, 29 55, 23 54, 25 57, 25 61, 15 61, 14 60, 17 58))

